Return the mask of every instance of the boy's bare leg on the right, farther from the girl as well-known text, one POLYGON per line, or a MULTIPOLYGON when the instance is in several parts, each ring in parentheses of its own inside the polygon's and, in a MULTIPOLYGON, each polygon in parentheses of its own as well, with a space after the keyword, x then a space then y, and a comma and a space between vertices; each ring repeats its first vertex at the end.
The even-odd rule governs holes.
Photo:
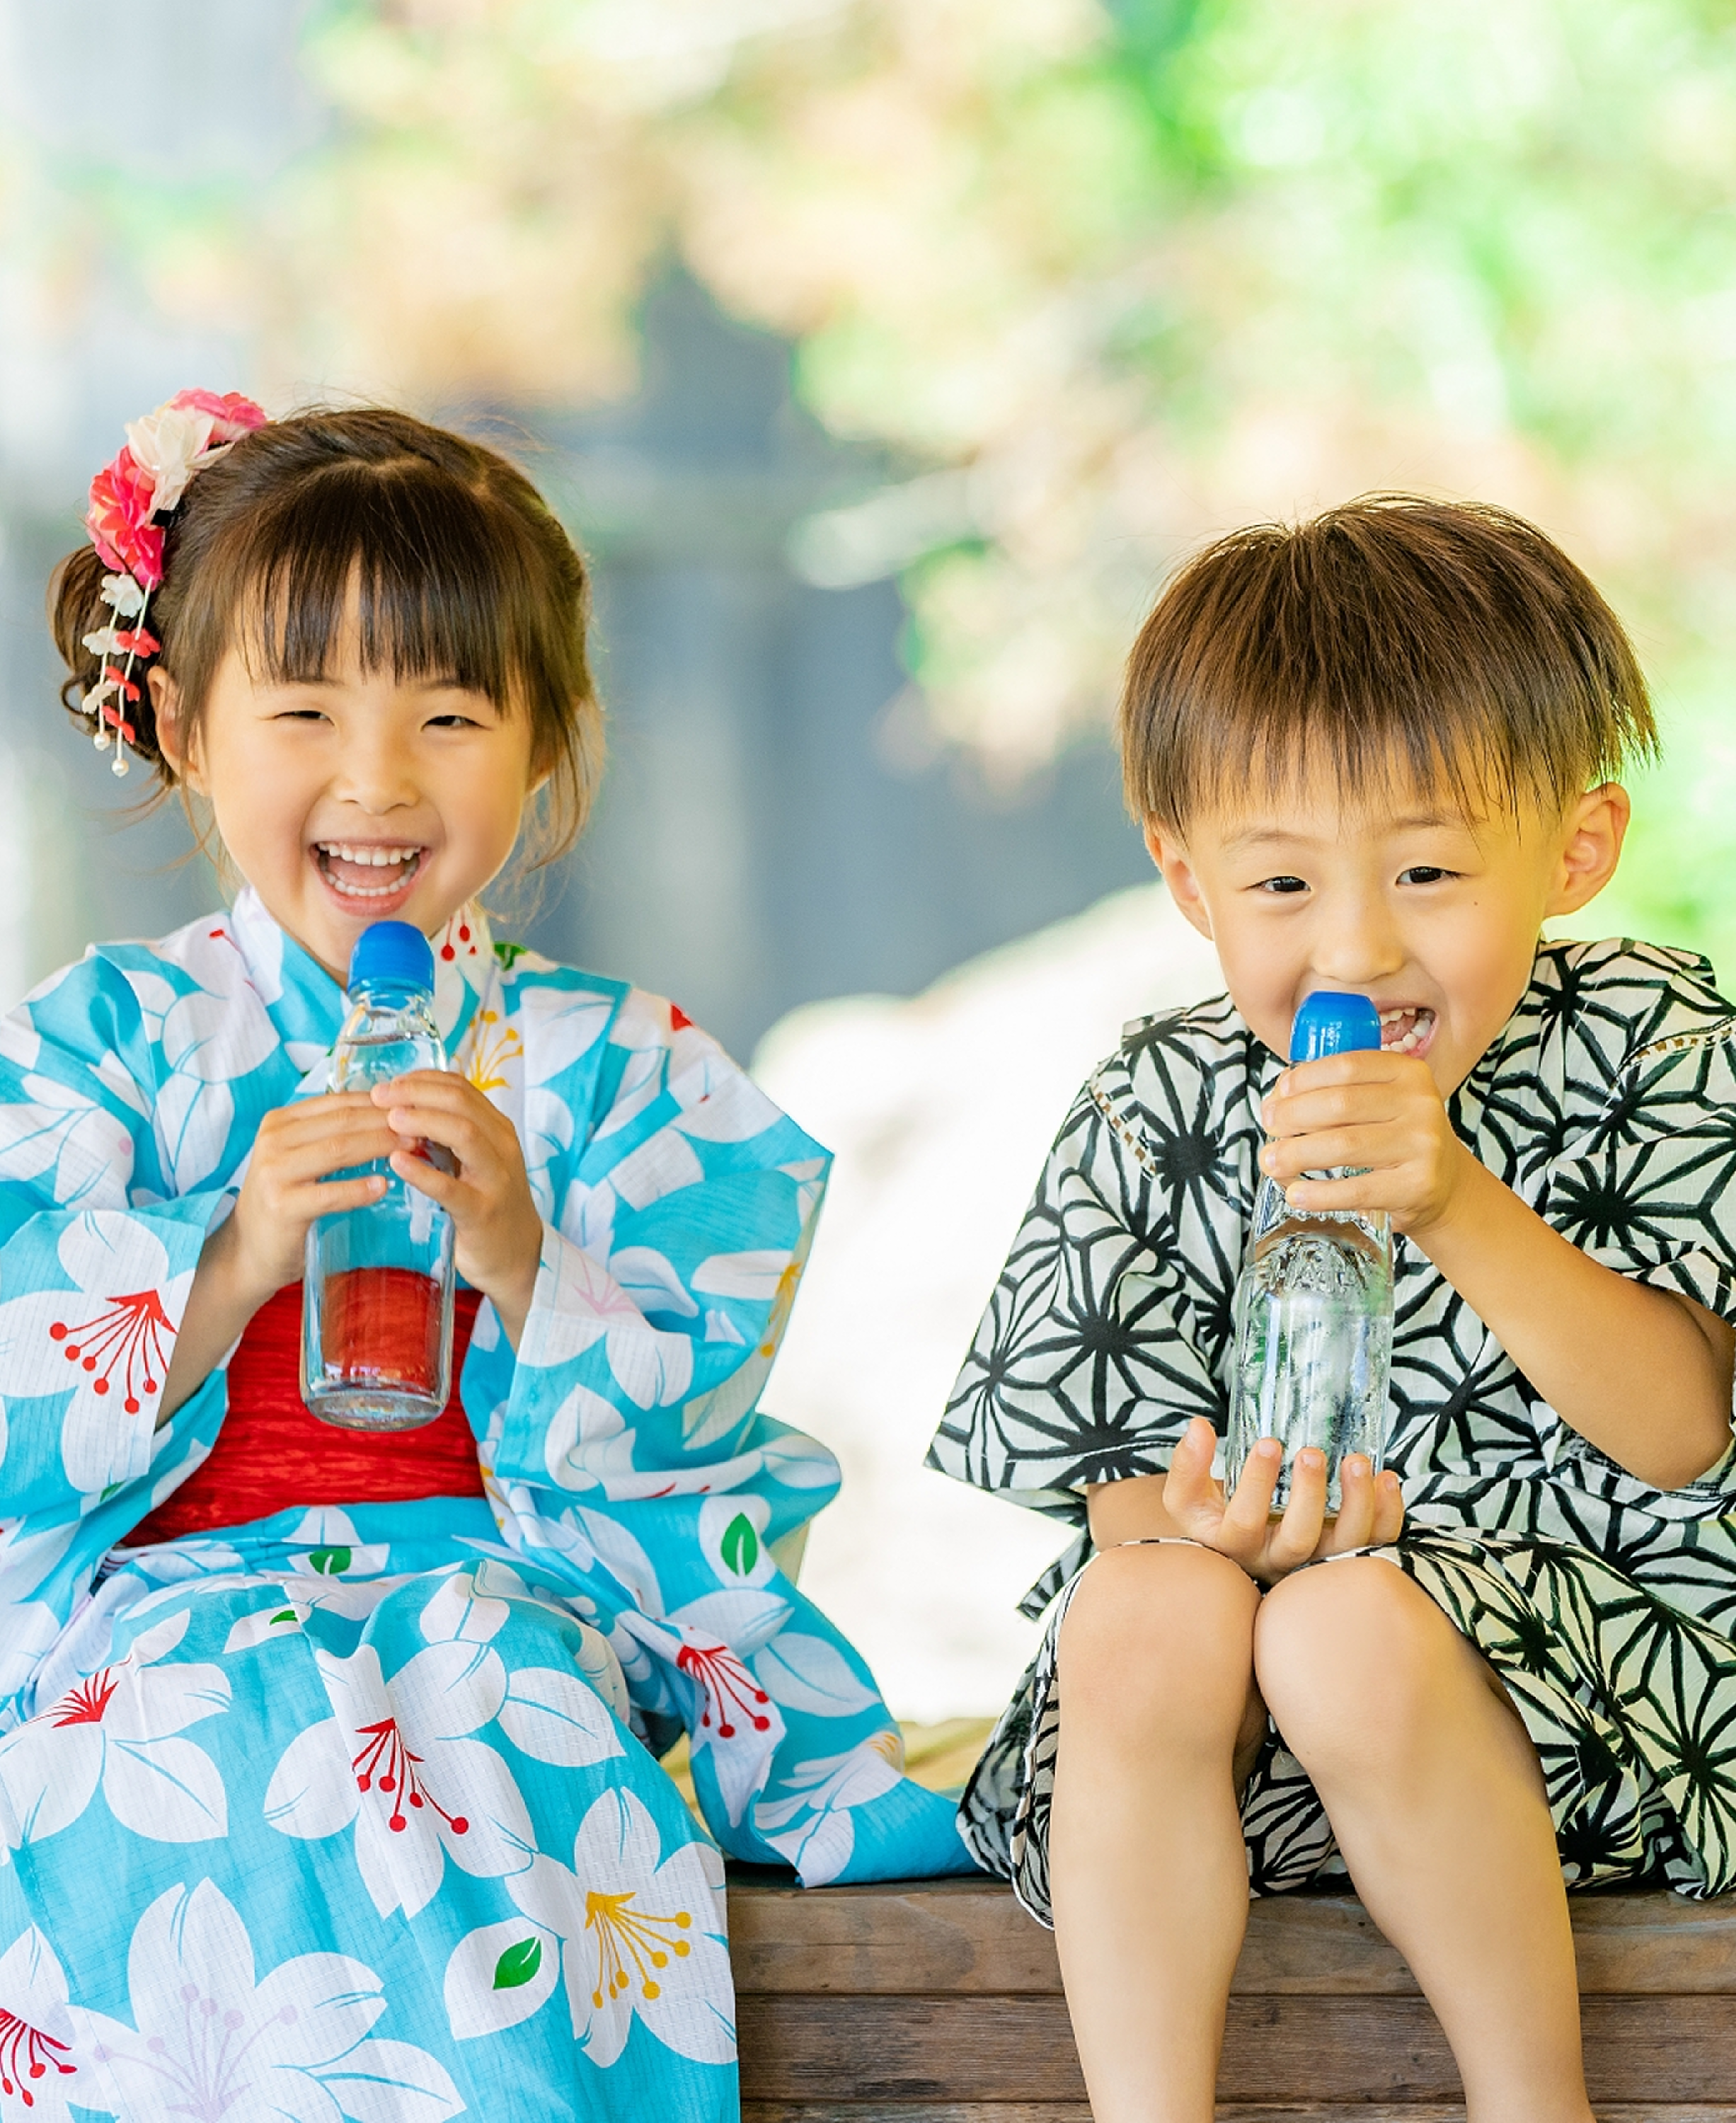
POLYGON ((1452 2042, 1466 2123, 1590 2123, 1543 1773, 1490 1669, 1375 1556, 1275 1586, 1254 1667, 1356 1892, 1452 2042))

